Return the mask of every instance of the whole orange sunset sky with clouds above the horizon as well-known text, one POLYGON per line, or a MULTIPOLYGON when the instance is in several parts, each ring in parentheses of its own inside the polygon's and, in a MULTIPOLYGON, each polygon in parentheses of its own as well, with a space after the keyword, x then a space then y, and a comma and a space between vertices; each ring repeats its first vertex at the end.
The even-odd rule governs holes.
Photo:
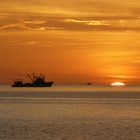
POLYGON ((140 84, 140 1, 1 0, 0 83, 140 84))

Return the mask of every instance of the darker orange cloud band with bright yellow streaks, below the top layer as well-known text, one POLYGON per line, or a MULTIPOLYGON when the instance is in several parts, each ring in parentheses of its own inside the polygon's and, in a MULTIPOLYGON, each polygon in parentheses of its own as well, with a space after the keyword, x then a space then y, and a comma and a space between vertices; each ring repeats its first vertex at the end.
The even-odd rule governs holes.
POLYGON ((0 30, 9 31, 140 31, 139 17, 71 17, 57 15, 6 15, 0 30))

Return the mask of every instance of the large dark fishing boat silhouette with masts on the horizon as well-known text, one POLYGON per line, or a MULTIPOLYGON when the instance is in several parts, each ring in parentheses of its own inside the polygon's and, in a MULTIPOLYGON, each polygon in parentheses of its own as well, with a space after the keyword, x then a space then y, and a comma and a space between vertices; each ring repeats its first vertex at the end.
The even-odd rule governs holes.
POLYGON ((24 83, 21 79, 15 79, 12 87, 51 87, 53 85, 53 81, 45 81, 45 76, 40 74, 36 76, 27 74, 28 78, 31 80, 30 83, 24 83))

